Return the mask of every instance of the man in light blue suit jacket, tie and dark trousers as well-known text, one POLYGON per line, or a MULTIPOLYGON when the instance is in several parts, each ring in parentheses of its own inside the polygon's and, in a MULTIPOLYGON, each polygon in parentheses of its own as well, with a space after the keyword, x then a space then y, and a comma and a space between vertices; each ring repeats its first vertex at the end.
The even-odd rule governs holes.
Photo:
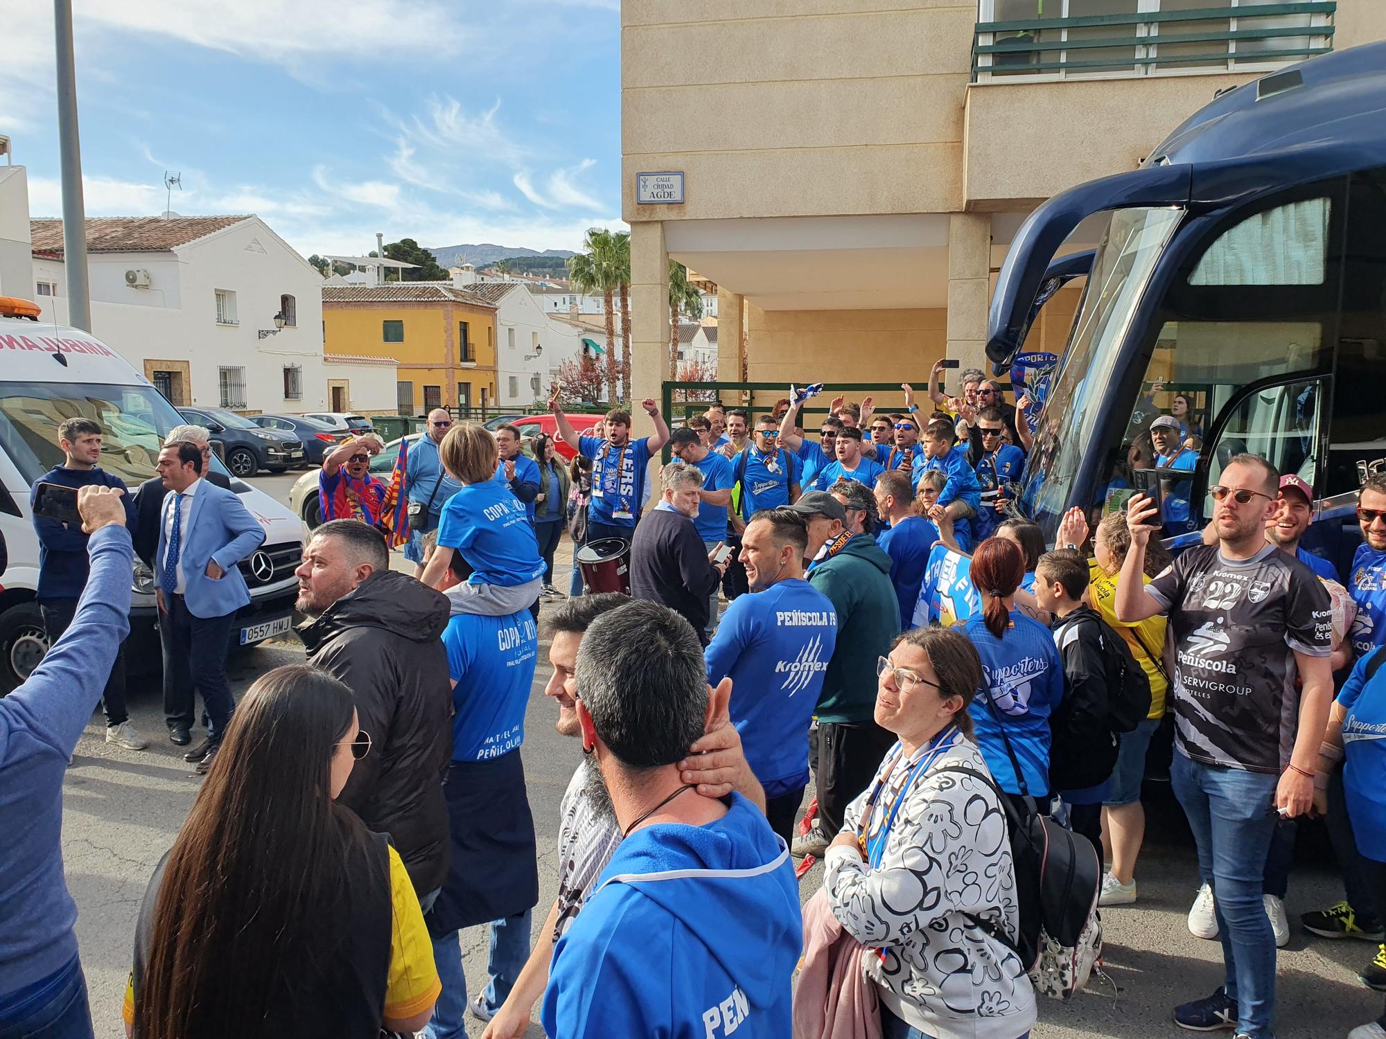
POLYGON ((207 774, 236 701, 226 650, 236 612, 251 601, 236 564, 265 540, 265 529, 234 492, 202 479, 202 452, 190 442, 159 452, 164 499, 154 583, 164 643, 164 715, 173 743, 188 743, 193 691, 211 719, 208 737, 183 755, 207 774))

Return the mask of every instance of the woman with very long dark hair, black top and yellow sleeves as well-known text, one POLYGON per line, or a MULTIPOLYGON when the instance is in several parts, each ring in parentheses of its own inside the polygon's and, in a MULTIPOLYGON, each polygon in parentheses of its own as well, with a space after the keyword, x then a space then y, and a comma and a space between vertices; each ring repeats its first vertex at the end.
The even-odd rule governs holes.
POLYGON ((144 892, 125 1031, 139 1039, 376 1039, 438 997, 409 874, 335 803, 370 752, 351 690, 259 677, 144 892))

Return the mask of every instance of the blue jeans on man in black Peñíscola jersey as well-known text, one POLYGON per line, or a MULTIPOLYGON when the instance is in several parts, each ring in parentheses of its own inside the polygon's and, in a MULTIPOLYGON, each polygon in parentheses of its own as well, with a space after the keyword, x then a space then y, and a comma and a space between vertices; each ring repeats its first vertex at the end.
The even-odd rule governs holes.
POLYGON ((1202 765, 1175 749, 1174 797, 1199 849, 1199 874, 1213 878, 1224 991, 1236 1003, 1236 1031, 1270 1039, 1275 1015, 1275 936, 1261 891, 1275 833, 1277 776, 1202 765))

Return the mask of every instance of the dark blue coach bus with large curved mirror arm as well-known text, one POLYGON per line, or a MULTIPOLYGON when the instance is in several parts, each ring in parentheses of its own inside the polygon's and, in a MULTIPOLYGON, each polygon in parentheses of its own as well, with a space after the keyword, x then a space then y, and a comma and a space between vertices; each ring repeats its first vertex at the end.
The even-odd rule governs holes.
MULTIPOLYGON (((1058 195, 1001 270, 987 355, 1010 367, 1038 308, 1087 287, 1048 380, 1020 511, 1053 542, 1153 465, 1150 423, 1178 411, 1192 472, 1166 526, 1184 547, 1207 488, 1249 450, 1315 489, 1304 539, 1342 572, 1362 468, 1386 468, 1386 44, 1314 58, 1218 96, 1142 166, 1058 195), (1098 248, 1055 259, 1089 216, 1098 248), (1175 407, 1175 398, 1184 400, 1175 407)), ((1167 517, 1168 518, 1168 517, 1167 517)))

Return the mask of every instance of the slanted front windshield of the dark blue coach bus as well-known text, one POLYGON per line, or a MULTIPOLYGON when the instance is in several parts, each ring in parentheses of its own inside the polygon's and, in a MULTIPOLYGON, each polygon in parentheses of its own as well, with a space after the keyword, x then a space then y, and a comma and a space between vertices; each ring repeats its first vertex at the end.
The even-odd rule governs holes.
POLYGON ((1127 327, 1160 254, 1184 217, 1181 208, 1116 209, 1107 222, 1055 374, 1020 490, 1020 511, 1053 542, 1087 445, 1096 436, 1098 403, 1113 384, 1127 327))

